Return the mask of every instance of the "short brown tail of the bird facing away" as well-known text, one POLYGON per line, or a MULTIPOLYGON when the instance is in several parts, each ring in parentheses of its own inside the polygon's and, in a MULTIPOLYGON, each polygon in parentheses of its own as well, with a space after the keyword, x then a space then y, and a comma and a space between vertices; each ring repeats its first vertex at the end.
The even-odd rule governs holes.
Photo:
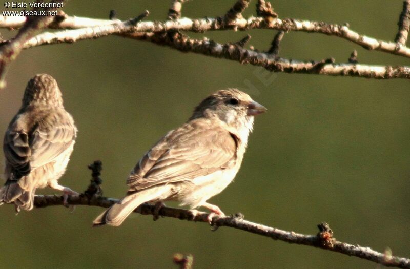
POLYGON ((0 189, 0 204, 12 203, 18 208, 32 210, 34 205, 35 189, 26 191, 18 184, 18 181, 8 179, 0 189))

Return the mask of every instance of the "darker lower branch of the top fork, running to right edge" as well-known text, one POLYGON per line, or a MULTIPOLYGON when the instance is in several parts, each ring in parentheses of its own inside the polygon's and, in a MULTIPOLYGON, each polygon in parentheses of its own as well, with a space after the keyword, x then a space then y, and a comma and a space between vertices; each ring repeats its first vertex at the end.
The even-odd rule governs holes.
POLYGON ((297 61, 247 50, 235 44, 219 44, 209 39, 192 39, 179 33, 136 34, 135 38, 148 40, 158 45, 166 45, 182 52, 194 52, 216 58, 238 61, 241 64, 261 66, 272 72, 324 74, 332 76, 355 76, 367 78, 410 78, 409 67, 368 66, 334 64, 332 60, 297 61))

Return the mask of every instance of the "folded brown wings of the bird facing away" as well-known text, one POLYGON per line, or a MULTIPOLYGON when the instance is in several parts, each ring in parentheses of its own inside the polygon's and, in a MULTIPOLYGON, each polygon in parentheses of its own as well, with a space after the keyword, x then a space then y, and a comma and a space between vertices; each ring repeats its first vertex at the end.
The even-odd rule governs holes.
MULTIPOLYGON (((67 112, 65 112, 67 113, 67 112)), ((74 142, 76 129, 71 116, 56 113, 32 127, 15 118, 6 131, 3 149, 14 179, 27 176, 32 169, 53 161, 74 142), (47 124, 46 124, 47 122, 47 124)))

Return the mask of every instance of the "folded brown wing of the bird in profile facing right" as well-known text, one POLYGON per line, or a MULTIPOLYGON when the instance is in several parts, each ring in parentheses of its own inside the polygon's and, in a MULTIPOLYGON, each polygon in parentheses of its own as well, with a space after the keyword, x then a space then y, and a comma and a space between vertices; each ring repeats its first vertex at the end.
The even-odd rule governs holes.
MULTIPOLYGON (((206 122, 208 123, 208 122, 206 122)), ((163 137, 129 176, 129 191, 184 181, 235 165, 236 137, 222 127, 189 122, 163 137)))

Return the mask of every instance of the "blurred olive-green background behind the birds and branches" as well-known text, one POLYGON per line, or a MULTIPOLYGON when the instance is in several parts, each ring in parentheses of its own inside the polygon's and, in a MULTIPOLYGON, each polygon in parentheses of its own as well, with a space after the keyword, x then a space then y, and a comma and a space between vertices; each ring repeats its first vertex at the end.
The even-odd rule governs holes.
MULTIPOLYGON (((234 0, 190 1, 183 16, 218 16, 234 0)), ((244 15, 255 14, 255 1, 244 15)), ((170 1, 69 1, 69 15, 108 18, 115 9, 127 19, 145 9, 163 20, 170 1)), ((401 1, 273 2, 281 18, 348 22, 351 28, 393 40, 401 1)), ((4 7, 1 5, 0 10, 4 7)), ((15 32, 1 30, 4 37, 15 32)), ((249 31, 249 45, 267 50, 275 34, 249 31)), ((233 42, 244 32, 208 32, 233 42)), ((360 63, 410 65, 410 59, 369 52, 343 39, 320 34, 286 34, 280 54, 295 59, 335 57, 346 62, 358 50, 360 63)), ((316 234, 330 223, 338 240, 388 247, 410 256, 410 89, 403 79, 371 80, 301 74, 268 74, 234 61, 185 54, 120 37, 23 51, 0 91, 0 130, 20 106, 27 81, 37 73, 54 76, 78 139, 60 183, 84 191, 87 165, 103 161, 104 194, 120 198, 134 164, 167 131, 179 126, 208 94, 238 87, 268 107, 257 117, 235 182, 210 201, 228 214, 284 230, 316 234), (259 75, 258 75, 259 74, 259 75)), ((0 157, 3 160, 3 155, 0 157)), ((41 190, 38 193, 55 193, 41 190)), ((176 205, 169 203, 169 205, 176 205)), ((192 253, 195 268, 377 268, 355 257, 290 245, 203 223, 150 216, 129 217, 120 227, 92 229, 102 211, 58 206, 15 216, 0 207, 2 268, 174 268, 175 252, 192 253)))

